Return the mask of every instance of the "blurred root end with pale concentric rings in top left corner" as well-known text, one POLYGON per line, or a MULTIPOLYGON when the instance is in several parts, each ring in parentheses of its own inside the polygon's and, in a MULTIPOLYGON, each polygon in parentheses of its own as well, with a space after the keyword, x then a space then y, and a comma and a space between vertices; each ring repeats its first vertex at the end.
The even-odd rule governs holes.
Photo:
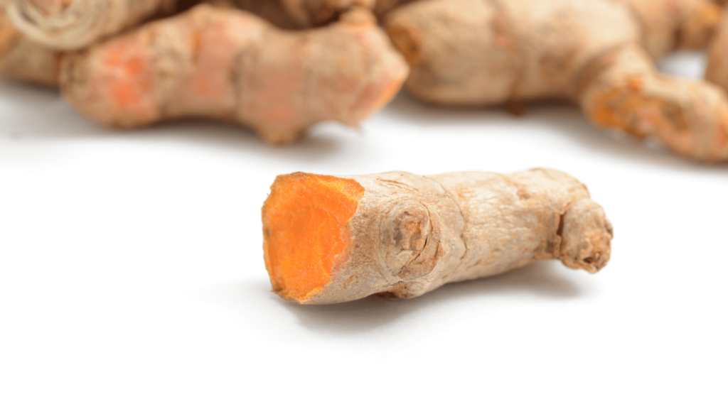
POLYGON ((52 49, 81 49, 119 33, 177 0, 7 0, 7 12, 28 39, 52 49))

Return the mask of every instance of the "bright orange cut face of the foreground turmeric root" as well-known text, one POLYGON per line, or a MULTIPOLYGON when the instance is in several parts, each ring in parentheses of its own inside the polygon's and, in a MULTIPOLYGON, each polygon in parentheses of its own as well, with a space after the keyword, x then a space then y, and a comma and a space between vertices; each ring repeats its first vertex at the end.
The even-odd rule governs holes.
POLYGON ((331 281, 363 196, 352 179, 309 173, 276 179, 263 206, 266 269, 276 293, 300 301, 331 281))

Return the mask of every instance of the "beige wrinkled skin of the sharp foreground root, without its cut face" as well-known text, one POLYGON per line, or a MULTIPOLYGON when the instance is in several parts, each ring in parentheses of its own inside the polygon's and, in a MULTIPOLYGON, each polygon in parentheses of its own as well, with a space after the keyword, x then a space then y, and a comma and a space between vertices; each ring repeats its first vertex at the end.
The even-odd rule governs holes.
POLYGON ((591 273, 609 261, 612 225, 587 188, 563 172, 341 178, 365 188, 349 222, 351 241, 331 281, 296 300, 302 304, 412 298, 537 260, 591 273))

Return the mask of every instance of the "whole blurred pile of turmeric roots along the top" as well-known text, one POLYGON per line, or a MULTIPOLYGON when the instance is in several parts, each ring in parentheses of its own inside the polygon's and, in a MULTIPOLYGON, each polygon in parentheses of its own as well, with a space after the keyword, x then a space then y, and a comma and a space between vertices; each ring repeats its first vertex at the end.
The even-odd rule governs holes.
POLYGON ((244 124, 271 143, 325 120, 356 126, 406 79, 408 92, 438 105, 573 101, 600 127, 722 162, 722 3, 7 0, 0 75, 60 84, 79 111, 110 126, 201 116, 244 124), (707 79, 719 87, 654 68, 713 38, 707 79))

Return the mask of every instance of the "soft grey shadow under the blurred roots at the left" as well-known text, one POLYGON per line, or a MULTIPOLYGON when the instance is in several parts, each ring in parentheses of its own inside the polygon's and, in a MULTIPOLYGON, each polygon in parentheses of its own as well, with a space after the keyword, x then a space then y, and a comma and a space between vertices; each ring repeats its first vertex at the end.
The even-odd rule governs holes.
POLYGON ((339 154, 344 138, 355 134, 344 126, 325 123, 312 127, 306 135, 289 146, 273 146, 258 138, 255 132, 237 124, 207 119, 179 119, 160 122, 134 130, 103 127, 79 114, 66 103, 57 90, 28 84, 0 82, 4 96, 4 132, 14 138, 53 140, 130 139, 154 143, 158 140, 179 140, 212 148, 253 152, 280 159, 317 162, 339 154), (10 103, 9 101, 12 101, 10 103))

